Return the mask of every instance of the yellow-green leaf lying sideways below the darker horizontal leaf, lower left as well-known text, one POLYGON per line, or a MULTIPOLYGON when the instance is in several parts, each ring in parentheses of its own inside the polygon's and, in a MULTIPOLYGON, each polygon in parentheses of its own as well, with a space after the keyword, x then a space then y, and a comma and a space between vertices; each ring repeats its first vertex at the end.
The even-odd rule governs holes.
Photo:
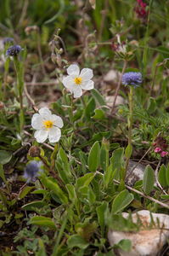
POLYGON ((56 225, 54 224, 54 221, 52 221, 51 218, 38 216, 38 217, 32 217, 31 218, 31 224, 47 227, 50 230, 57 230, 56 225))

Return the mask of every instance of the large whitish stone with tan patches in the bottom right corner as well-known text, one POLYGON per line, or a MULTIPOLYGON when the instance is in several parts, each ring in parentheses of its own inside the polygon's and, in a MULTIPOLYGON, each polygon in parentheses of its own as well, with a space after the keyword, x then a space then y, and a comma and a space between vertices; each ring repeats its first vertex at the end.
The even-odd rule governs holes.
MULTIPOLYGON (((159 219, 160 227, 165 225, 165 229, 169 229, 169 216, 162 213, 151 212, 154 219, 155 225, 157 226, 156 218, 159 219)), ((128 218, 128 213, 123 212, 122 216, 128 218)), ((138 216, 146 226, 149 226, 151 222, 149 211, 143 210, 138 212, 138 216)), ((138 217, 136 213, 132 213, 133 223, 137 223, 138 217)), ((132 241, 132 250, 127 253, 118 249, 118 255, 120 256, 156 256, 156 254, 161 251, 161 247, 166 243, 166 238, 169 237, 169 230, 164 229, 152 229, 152 230, 139 230, 138 232, 122 232, 115 230, 108 230, 108 239, 110 241, 110 246, 121 241, 121 239, 129 239, 132 241)))

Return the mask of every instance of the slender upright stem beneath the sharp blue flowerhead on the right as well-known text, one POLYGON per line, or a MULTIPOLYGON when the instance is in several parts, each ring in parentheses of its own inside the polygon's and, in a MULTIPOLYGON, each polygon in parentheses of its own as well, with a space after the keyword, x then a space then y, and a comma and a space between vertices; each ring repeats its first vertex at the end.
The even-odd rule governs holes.
MULTIPOLYGON (((128 120, 128 146, 132 147, 132 123, 133 123, 133 86, 131 85, 130 93, 129 93, 129 102, 130 102, 130 118, 128 120)), ((124 171, 123 180, 125 181, 127 176, 127 169, 129 164, 130 157, 126 160, 126 166, 124 171)))

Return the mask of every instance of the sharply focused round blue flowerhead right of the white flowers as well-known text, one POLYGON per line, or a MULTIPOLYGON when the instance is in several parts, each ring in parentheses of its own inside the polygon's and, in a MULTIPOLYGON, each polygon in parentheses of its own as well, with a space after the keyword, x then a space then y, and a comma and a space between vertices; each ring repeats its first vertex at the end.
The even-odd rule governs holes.
POLYGON ((139 86, 143 81, 142 74, 139 72, 127 72, 122 75, 121 82, 126 85, 139 86))

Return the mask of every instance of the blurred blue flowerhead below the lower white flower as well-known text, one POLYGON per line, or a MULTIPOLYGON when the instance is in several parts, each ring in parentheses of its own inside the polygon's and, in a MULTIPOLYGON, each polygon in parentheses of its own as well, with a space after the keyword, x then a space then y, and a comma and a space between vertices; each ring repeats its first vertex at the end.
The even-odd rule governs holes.
POLYGON ((27 183, 32 180, 36 181, 37 176, 39 176, 40 167, 42 166, 42 162, 36 162, 35 160, 31 161, 27 166, 25 166, 23 177, 27 180, 27 183))

